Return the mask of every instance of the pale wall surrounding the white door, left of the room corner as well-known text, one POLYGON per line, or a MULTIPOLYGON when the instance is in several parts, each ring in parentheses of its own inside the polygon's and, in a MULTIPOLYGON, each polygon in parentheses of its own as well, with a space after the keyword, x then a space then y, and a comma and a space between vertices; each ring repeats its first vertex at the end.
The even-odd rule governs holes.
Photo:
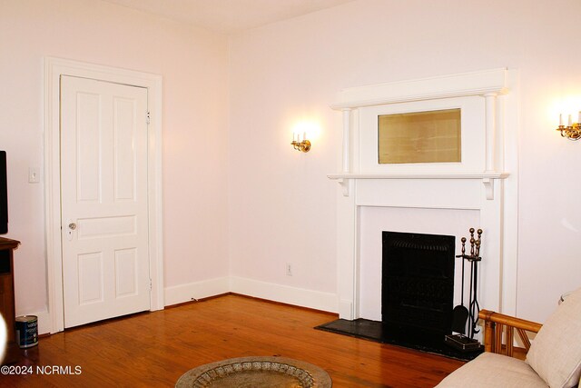
MULTIPOLYGON (((165 286, 228 275, 224 37, 94 0, 0 0, 0 149, 9 163, 16 314, 46 310, 44 56, 162 75, 165 286)), ((186 287, 187 290, 189 290, 186 287)), ((176 295, 176 298, 200 295, 176 295)), ((167 301, 166 301, 167 303, 167 301)))

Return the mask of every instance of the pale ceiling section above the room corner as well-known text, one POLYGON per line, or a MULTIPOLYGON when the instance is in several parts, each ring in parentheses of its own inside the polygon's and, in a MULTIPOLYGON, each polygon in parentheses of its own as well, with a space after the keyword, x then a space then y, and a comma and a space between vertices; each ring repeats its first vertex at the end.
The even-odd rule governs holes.
POLYGON ((268 25, 353 0, 104 0, 221 34, 268 25))

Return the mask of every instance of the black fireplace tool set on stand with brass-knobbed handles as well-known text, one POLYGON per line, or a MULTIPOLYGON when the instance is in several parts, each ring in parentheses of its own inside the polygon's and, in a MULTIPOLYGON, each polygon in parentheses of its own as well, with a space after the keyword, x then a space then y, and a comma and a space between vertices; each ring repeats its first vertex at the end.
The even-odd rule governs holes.
POLYGON ((472 352, 480 349, 480 343, 474 339, 474 334, 478 333, 478 312, 480 306, 478 304, 478 263, 482 260, 480 257, 480 246, 482 245, 482 229, 476 231, 477 238, 474 237, 474 228, 469 229, 470 232, 470 253, 466 252, 466 237, 461 238, 462 254, 456 257, 462 259, 462 289, 460 304, 454 307, 452 311, 452 331, 458 334, 446 335, 445 342, 448 345, 457 348, 462 352, 472 352), (470 264, 470 285, 468 288, 469 299, 468 308, 464 305, 464 266, 465 262, 470 264), (468 321, 468 333, 466 330, 468 321))

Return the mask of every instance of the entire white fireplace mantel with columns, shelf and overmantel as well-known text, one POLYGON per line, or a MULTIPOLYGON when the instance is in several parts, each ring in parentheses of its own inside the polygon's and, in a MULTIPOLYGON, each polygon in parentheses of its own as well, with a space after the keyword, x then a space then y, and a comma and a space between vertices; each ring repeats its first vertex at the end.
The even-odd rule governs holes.
POLYGON ((359 210, 364 206, 478 211, 480 224, 468 226, 482 228, 486 237, 480 305, 514 313, 517 71, 493 69, 353 87, 342 90, 331 108, 341 111, 343 116, 340 172, 328 175, 342 189, 337 217, 340 317, 361 317, 359 294, 366 280, 360 277, 359 210), (405 112, 436 110, 448 105, 462 106, 461 163, 386 165, 373 159, 377 155, 374 114, 382 109, 405 112))

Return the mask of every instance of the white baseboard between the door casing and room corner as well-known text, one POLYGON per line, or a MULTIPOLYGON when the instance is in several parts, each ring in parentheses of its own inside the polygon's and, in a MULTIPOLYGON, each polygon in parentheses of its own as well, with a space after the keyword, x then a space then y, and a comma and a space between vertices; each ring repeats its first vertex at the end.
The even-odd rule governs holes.
POLYGON ((204 280, 189 284, 180 284, 173 287, 166 287, 163 298, 163 305, 191 302, 195 299, 207 298, 209 296, 220 295, 230 292, 230 281, 228 277, 204 280))

